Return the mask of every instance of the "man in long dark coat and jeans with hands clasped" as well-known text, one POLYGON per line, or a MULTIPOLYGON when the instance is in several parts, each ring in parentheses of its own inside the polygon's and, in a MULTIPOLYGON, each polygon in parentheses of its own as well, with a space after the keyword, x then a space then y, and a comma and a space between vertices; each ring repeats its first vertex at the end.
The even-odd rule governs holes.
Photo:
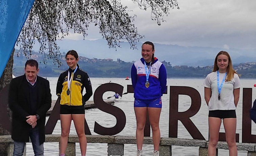
POLYGON ((44 155, 45 118, 51 107, 51 92, 49 81, 37 76, 38 71, 38 62, 28 60, 25 74, 10 82, 8 104, 12 111, 13 156, 23 155, 29 137, 34 155, 44 155))

